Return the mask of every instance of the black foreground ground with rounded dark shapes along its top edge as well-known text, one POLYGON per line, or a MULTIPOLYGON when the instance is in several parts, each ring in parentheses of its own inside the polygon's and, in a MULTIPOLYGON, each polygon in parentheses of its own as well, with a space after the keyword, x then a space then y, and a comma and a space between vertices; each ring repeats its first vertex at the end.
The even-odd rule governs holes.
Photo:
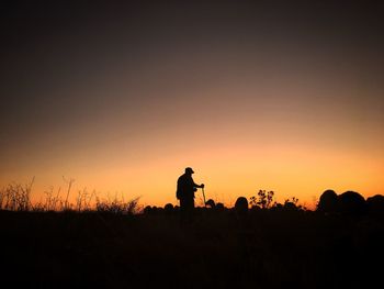
POLYGON ((172 205, 138 213, 2 210, 2 284, 381 288, 383 196, 360 197, 326 191, 316 211, 271 204, 268 194, 239 198, 231 209, 210 201, 187 223, 172 205))

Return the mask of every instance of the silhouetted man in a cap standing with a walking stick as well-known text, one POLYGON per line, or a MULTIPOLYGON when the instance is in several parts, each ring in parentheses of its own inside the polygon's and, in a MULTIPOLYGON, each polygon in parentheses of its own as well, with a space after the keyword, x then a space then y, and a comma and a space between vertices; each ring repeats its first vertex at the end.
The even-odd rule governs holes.
POLYGON ((190 219, 194 209, 194 192, 197 188, 204 188, 204 184, 197 185, 192 178, 193 169, 188 167, 185 173, 178 179, 177 198, 180 200, 180 211, 182 218, 190 219))

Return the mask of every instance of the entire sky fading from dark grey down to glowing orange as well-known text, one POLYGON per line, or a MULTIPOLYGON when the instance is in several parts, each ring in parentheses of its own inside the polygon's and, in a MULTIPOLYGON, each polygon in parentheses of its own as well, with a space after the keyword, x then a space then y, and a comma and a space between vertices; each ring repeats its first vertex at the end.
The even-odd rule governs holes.
POLYGON ((384 193, 383 4, 78 2, 1 7, 0 188, 384 193))

